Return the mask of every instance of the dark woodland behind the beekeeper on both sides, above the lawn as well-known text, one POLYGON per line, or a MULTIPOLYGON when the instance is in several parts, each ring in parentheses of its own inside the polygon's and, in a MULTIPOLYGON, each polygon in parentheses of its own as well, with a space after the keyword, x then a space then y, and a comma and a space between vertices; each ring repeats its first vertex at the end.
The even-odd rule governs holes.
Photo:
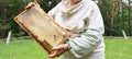
MULTIPOLYGON (((12 36, 24 36, 26 33, 13 21, 13 17, 23 11, 24 7, 33 0, 0 0, 0 37, 12 31, 12 36)), ((97 0, 95 0, 97 1, 97 0)), ((122 36, 122 31, 132 36, 132 3, 131 0, 99 0, 98 5, 103 16, 106 36, 122 36)), ((47 12, 59 0, 37 0, 47 12)))

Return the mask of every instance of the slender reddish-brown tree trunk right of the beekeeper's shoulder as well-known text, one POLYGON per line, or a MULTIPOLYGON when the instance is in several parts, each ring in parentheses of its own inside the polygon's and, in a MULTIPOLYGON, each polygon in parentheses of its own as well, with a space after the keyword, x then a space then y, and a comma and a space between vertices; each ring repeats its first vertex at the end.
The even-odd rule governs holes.
POLYGON ((114 0, 112 0, 112 8, 111 8, 110 36, 112 36, 112 33, 113 33, 113 19, 114 19, 114 0))

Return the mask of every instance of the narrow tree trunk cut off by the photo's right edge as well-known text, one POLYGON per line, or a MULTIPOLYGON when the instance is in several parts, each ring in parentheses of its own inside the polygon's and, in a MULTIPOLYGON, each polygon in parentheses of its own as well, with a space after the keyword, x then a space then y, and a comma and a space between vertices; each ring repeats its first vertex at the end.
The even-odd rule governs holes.
POLYGON ((129 0, 129 35, 132 36, 132 7, 131 7, 131 0, 129 0))

